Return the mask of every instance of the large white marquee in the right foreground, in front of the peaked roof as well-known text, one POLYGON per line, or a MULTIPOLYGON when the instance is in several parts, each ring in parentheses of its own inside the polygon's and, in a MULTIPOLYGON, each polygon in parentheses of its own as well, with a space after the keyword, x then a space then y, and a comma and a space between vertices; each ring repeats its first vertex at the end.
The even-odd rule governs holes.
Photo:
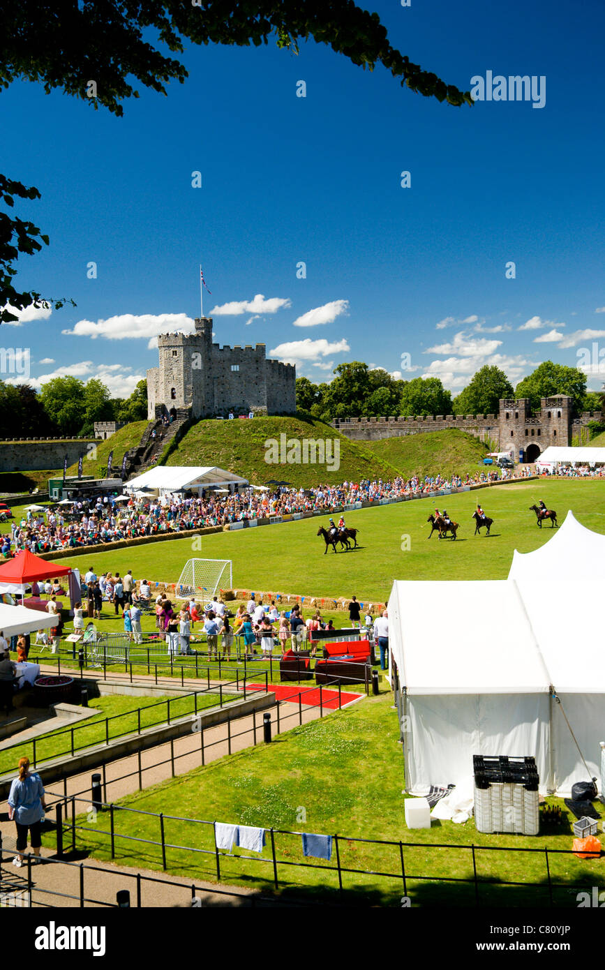
POLYGON ((567 794, 589 780, 573 735, 599 776, 602 591, 602 578, 566 579, 554 566, 506 580, 393 584, 407 791, 467 781, 473 755, 531 755, 540 791, 567 794))

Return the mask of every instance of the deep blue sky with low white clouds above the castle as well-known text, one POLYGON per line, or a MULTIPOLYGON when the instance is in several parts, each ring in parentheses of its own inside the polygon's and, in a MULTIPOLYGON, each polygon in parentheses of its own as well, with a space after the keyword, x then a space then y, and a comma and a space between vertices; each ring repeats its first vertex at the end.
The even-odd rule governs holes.
POLYGON ((601 387, 605 8, 368 7, 444 81, 545 78, 544 107, 452 108, 313 42, 189 47, 189 79, 167 98, 141 88, 122 118, 35 84, 0 93, 0 170, 40 189, 18 213, 50 237, 17 284, 78 305, 2 327, 3 345, 30 348, 31 383, 100 376, 127 396, 157 365, 156 335, 192 328, 201 262, 215 339, 264 342, 315 381, 362 360, 457 393, 485 363, 515 384, 595 343, 601 387))

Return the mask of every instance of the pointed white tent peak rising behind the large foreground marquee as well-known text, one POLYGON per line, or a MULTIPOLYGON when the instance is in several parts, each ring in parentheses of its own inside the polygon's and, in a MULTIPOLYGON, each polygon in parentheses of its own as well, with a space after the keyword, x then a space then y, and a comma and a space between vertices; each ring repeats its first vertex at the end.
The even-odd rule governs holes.
MULTIPOLYGON (((605 535, 583 526, 571 509, 558 529, 548 525, 542 528, 552 536, 533 552, 515 549, 509 579, 530 581, 542 576, 570 582, 594 579, 605 582, 605 535)), ((585 598, 581 601, 584 603, 585 598)))

